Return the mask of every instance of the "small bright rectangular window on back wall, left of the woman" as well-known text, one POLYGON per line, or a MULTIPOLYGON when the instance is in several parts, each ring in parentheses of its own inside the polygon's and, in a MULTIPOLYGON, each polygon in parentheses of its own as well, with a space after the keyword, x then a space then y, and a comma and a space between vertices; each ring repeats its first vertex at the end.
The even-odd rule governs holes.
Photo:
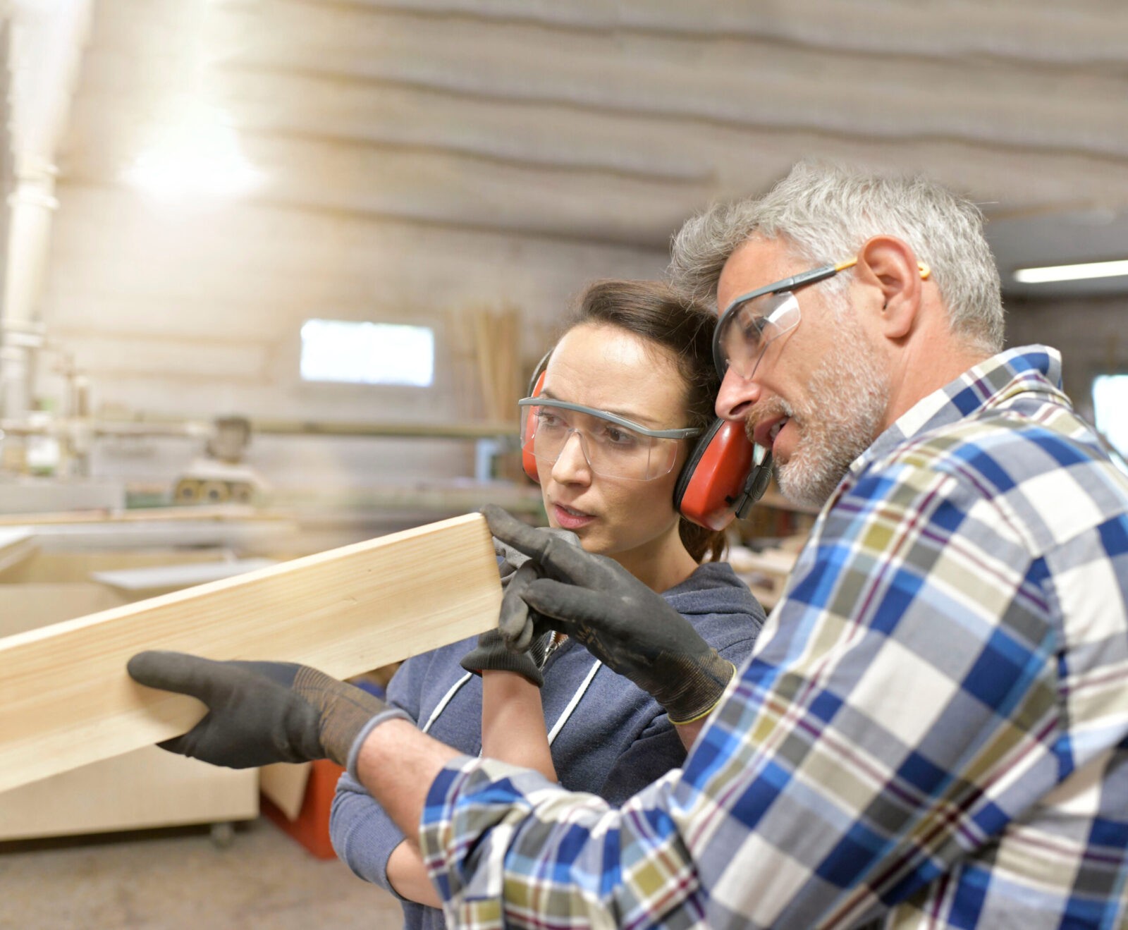
POLYGON ((301 326, 301 378, 430 387, 434 380, 434 331, 390 323, 307 319, 301 326))

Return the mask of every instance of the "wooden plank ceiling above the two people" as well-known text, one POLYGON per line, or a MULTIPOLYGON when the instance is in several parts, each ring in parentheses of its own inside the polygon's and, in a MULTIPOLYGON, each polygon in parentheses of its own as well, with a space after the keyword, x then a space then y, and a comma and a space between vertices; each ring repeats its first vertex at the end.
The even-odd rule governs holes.
POLYGON ((61 169, 120 184, 202 74, 287 208, 662 248, 829 156, 1120 210, 1126 47, 1117 0, 97 0, 61 169))

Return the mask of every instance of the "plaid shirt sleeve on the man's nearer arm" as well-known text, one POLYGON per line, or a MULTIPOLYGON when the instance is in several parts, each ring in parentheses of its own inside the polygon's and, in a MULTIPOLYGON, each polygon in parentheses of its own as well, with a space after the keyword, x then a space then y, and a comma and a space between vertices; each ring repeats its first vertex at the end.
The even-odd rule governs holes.
POLYGON ((466 925, 851 925, 1056 783, 1046 568, 1005 507, 902 464, 825 519, 681 772, 622 809, 492 762, 440 774, 424 859, 466 925))

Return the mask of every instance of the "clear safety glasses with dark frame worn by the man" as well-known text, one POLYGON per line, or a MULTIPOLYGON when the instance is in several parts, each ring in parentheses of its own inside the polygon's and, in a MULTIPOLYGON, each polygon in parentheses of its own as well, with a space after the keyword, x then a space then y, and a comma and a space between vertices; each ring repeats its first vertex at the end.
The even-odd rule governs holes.
MULTIPOLYGON (((832 278, 857 264, 857 258, 847 258, 832 265, 823 265, 804 271, 783 281, 742 293, 721 314, 713 332, 713 363, 723 378, 731 368, 746 381, 756 374, 767 348, 779 336, 799 325, 799 300, 795 291, 832 278)), ((927 278, 928 265, 917 262, 920 277, 927 278)))

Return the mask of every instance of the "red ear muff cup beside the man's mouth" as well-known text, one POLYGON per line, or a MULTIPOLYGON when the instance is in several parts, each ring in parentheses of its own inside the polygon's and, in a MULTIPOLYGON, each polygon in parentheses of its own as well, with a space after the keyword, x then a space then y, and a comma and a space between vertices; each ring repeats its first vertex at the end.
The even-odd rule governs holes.
POLYGON ((744 517, 772 477, 770 454, 757 462, 756 453, 743 423, 715 420, 678 476, 673 506, 708 529, 724 529, 733 518, 744 517))

